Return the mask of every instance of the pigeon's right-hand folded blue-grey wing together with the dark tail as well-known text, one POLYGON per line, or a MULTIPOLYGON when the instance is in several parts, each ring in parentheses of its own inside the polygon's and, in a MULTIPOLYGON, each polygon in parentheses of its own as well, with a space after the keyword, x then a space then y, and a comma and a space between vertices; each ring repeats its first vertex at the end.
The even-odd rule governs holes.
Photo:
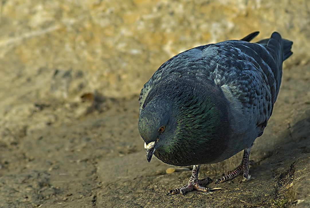
POLYGON ((219 86, 227 86, 243 109, 253 113, 261 130, 272 114, 281 84, 282 62, 292 54, 291 45, 276 32, 259 43, 230 40, 214 45, 219 47, 219 60, 210 77, 219 86))

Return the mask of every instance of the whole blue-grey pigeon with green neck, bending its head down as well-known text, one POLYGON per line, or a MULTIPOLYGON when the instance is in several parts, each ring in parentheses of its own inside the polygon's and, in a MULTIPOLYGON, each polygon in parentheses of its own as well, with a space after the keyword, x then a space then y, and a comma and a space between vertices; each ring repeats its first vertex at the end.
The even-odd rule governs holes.
POLYGON ((293 54, 293 42, 277 32, 251 43, 258 34, 179 53, 142 88, 138 127, 148 162, 155 155, 170 165, 193 165, 189 182, 168 194, 215 190, 201 186, 212 181, 198 179, 201 164, 221 162, 242 150, 241 164, 215 184, 240 174, 250 179, 253 142, 272 114, 282 62, 293 54))

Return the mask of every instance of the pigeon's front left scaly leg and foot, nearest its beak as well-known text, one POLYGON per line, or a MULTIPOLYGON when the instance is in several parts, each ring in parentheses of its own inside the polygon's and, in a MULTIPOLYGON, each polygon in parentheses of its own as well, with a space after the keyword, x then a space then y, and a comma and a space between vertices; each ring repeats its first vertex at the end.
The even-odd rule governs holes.
POLYGON ((188 184, 186 184, 185 186, 182 186, 180 188, 170 190, 169 193, 171 193, 172 195, 177 194, 177 193, 182 193, 184 195, 186 192, 190 192, 193 189, 197 189, 197 191, 203 191, 203 192, 219 189, 219 188, 210 189, 210 188, 206 188, 206 187, 201 186, 201 184, 207 184, 207 183, 211 182, 212 179, 206 178, 206 179, 198 180, 199 168, 200 168, 200 165, 195 165, 193 167, 192 176, 190 177, 188 184))

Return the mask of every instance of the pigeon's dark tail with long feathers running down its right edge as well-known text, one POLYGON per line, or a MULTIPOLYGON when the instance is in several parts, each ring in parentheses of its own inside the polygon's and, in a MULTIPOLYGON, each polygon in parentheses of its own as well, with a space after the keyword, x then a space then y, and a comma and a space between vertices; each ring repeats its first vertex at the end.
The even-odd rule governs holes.
POLYGON ((293 54, 293 52, 291 51, 293 42, 286 39, 282 39, 279 33, 274 32, 272 33, 270 38, 263 39, 257 43, 266 48, 269 55, 272 56, 276 64, 276 67, 272 68, 272 73, 277 83, 276 95, 274 99, 275 101, 277 99, 277 95, 279 93, 279 88, 281 85, 282 62, 293 54))

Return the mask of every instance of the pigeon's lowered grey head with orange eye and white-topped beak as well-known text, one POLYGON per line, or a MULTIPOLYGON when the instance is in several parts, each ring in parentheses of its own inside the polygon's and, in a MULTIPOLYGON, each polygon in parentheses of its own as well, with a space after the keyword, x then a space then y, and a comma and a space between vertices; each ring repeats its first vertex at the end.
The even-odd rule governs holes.
POLYGON ((139 132, 144 139, 144 148, 148 162, 156 149, 165 147, 175 130, 175 119, 171 117, 171 105, 168 99, 153 98, 141 110, 139 132))

